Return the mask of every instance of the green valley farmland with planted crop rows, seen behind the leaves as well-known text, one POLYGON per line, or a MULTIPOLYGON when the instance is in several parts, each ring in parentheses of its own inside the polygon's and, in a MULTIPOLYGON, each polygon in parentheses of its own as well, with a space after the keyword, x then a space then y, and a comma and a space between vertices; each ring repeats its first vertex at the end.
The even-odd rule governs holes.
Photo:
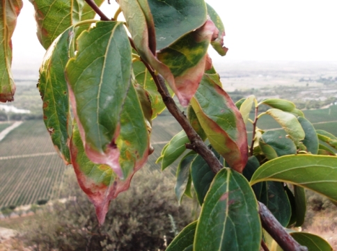
MULTIPOLYGON (((308 110, 304 114, 316 129, 337 135, 337 106, 308 110)), ((265 130, 280 128, 269 115, 261 117, 258 127, 265 130)), ((155 152, 149 156, 148 165, 155 169, 159 168, 155 161, 160 156, 162 147, 181 127, 171 116, 159 116, 152 122, 152 128, 151 144, 155 152)), ((251 131, 251 127, 247 129, 251 131)), ((174 172, 176 164, 171 172, 174 172)), ((58 197, 64 170, 65 165, 57 156, 43 122, 24 122, 0 142, 0 208, 58 197)), ((171 172, 164 171, 166 174, 171 172)))

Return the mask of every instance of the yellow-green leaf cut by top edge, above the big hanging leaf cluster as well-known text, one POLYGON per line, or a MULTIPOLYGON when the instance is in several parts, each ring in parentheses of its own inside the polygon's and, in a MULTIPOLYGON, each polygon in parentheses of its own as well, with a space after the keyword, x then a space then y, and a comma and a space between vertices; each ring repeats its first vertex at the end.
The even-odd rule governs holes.
MULTIPOLYGON (((38 24, 38 40, 45 49, 73 24, 93 19, 95 11, 84 0, 29 0, 33 4, 38 24)), ((100 6, 104 0, 95 0, 100 6)), ((81 26, 79 32, 87 29, 89 24, 81 26)))

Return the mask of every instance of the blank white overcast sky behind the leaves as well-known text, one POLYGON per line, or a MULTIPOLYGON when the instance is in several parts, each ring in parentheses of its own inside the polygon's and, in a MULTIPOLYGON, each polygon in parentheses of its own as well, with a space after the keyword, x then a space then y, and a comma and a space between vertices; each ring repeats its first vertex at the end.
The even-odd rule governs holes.
MULTIPOLYGON (((115 6, 111 0, 112 6, 115 6)), ((219 60, 337 61, 336 0, 208 0, 226 29, 228 54, 219 60)), ((104 3, 104 6, 108 6, 104 3)), ((112 17, 112 7, 104 7, 112 17)), ((13 68, 39 67, 45 50, 36 38, 33 6, 24 0, 13 35, 13 68)))

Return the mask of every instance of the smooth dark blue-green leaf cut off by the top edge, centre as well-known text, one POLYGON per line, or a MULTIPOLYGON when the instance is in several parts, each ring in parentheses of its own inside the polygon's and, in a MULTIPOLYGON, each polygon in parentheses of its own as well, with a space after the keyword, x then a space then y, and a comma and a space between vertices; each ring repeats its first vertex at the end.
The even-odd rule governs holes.
POLYGON ((148 0, 155 22, 157 51, 169 47, 185 34, 200 28, 207 19, 203 0, 148 0))

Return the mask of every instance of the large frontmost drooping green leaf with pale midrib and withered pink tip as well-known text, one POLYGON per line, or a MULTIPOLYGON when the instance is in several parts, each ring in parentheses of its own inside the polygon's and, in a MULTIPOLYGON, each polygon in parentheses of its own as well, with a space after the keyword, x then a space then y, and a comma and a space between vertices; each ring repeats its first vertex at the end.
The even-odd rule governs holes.
POLYGON ((127 33, 122 22, 97 22, 77 42, 77 55, 69 60, 65 72, 86 155, 94 163, 111 166, 123 177, 116 139, 120 112, 131 82, 127 33))

